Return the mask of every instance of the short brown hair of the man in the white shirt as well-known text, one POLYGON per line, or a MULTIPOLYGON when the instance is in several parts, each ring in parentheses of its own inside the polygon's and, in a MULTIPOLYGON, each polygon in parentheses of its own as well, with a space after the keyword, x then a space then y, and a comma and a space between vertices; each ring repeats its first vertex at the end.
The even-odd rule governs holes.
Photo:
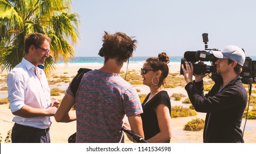
POLYGON ((44 34, 37 32, 28 34, 27 36, 25 36, 25 53, 28 53, 28 50, 31 45, 35 46, 36 48, 39 48, 45 40, 47 40, 49 43, 51 42, 51 38, 44 34))

